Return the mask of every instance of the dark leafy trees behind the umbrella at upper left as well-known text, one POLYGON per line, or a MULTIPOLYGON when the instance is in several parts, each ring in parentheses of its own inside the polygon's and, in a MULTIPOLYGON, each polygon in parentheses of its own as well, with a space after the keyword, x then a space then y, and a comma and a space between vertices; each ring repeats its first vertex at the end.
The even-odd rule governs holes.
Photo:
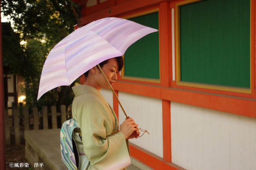
POLYGON ((79 5, 72 0, 1 0, 1 7, 4 16, 14 21, 14 29, 21 40, 27 42, 20 46, 19 53, 13 53, 11 60, 10 55, 3 53, 4 64, 11 68, 13 74, 20 74, 25 79, 27 105, 69 105, 72 90, 65 86, 59 91, 47 92, 39 101, 36 98, 47 54, 74 31, 74 25, 79 23, 79 5))

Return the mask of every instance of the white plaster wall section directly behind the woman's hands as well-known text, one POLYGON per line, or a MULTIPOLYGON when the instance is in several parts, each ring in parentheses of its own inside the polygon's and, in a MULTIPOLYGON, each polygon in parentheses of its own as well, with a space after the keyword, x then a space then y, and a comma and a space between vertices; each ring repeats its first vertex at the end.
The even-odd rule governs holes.
MULTIPOLYGON (((119 92, 119 100, 126 113, 132 117, 139 127, 147 129, 141 138, 130 139, 130 143, 140 146, 157 156, 163 157, 162 145, 162 100, 119 92)), ((119 106, 119 124, 125 120, 123 110, 119 106)))

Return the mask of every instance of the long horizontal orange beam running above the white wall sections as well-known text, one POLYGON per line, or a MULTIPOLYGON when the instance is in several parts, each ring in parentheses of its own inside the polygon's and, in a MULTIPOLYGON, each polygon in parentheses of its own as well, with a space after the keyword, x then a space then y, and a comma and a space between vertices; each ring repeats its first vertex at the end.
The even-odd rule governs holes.
POLYGON ((141 96, 154 97, 256 118, 256 99, 215 95, 183 89, 162 88, 159 86, 134 84, 123 81, 116 81, 114 89, 141 96))

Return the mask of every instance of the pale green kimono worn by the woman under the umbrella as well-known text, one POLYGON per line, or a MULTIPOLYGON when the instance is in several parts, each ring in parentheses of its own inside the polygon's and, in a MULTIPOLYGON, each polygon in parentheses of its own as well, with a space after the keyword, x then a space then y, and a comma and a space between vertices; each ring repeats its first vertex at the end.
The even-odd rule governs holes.
POLYGON ((89 170, 122 170, 130 165, 129 142, 122 132, 114 110, 101 93, 89 85, 72 88, 73 118, 82 131, 84 153, 90 161, 89 170))

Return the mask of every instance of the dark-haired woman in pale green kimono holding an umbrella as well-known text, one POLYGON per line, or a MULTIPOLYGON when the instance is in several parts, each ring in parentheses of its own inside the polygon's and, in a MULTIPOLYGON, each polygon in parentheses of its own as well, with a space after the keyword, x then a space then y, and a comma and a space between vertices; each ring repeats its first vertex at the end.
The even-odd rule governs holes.
MULTIPOLYGON (((123 67, 123 57, 115 57, 99 64, 109 83, 114 85, 123 67)), ((82 132, 84 153, 90 161, 89 170, 122 170, 130 165, 128 139, 140 135, 138 124, 132 118, 119 124, 112 107, 99 92, 109 89, 107 81, 97 66, 85 74, 84 85, 73 87, 73 118, 82 132)))

